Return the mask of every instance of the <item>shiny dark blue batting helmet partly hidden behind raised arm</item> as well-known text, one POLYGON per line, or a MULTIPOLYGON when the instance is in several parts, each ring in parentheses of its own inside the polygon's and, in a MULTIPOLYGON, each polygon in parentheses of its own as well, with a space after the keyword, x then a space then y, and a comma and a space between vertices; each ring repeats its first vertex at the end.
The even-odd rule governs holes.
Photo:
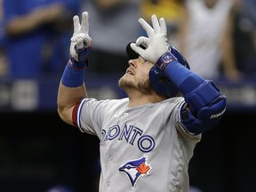
MULTIPOLYGON (((127 44, 126 52, 130 59, 137 59, 139 57, 139 54, 132 50, 130 44, 127 44)), ((169 51, 172 52, 172 54, 177 58, 180 65, 190 69, 188 61, 183 57, 180 51, 173 44, 168 44, 169 51)), ((140 47, 142 49, 146 49, 146 47, 142 44, 140 45, 140 47)), ((156 92, 163 94, 168 98, 175 97, 179 92, 178 88, 174 84, 172 84, 171 80, 169 80, 167 76, 164 75, 164 72, 156 66, 153 66, 149 71, 149 81, 156 92)))

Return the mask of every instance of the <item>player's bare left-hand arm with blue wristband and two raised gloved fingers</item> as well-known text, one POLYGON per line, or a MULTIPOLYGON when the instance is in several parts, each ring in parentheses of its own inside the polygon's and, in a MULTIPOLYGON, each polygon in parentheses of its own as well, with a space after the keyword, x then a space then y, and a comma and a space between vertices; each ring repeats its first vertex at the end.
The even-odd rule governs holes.
POLYGON ((73 123, 73 111, 79 102, 87 97, 84 84, 84 69, 87 65, 87 54, 92 44, 88 35, 88 12, 82 13, 81 24, 78 16, 74 16, 74 34, 71 38, 70 57, 60 80, 57 106, 60 118, 68 123, 73 123))

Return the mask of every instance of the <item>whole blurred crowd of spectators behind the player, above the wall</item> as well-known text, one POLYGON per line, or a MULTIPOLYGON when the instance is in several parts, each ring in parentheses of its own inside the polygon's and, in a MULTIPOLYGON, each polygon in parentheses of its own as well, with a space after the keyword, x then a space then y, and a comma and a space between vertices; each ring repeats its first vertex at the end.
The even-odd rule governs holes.
POLYGON ((164 17, 169 41, 205 78, 256 75, 253 0, 1 0, 0 76, 54 76, 69 57, 72 17, 89 12, 92 52, 86 72, 127 68, 126 44, 143 34, 138 18, 164 17))

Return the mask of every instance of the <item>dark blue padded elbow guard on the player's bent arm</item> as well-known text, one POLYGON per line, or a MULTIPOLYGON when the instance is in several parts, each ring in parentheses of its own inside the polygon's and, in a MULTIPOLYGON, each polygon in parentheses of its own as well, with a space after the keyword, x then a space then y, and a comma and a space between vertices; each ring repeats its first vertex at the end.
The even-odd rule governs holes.
POLYGON ((212 81, 206 80, 196 90, 188 93, 185 100, 193 110, 183 109, 180 122, 190 133, 199 134, 216 126, 226 111, 226 96, 220 95, 212 81), (196 114, 193 113, 195 109, 196 114))

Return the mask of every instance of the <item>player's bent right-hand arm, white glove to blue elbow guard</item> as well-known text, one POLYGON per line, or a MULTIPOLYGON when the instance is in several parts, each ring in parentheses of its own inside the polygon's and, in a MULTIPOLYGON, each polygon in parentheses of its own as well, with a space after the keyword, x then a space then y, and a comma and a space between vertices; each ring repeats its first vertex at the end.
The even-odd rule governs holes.
POLYGON ((184 128, 194 134, 211 129, 219 124, 225 114, 226 96, 220 93, 212 81, 178 62, 168 49, 164 18, 158 21, 156 15, 152 15, 151 19, 153 28, 145 20, 139 20, 148 37, 140 36, 136 44, 131 44, 132 49, 145 60, 155 63, 183 94, 187 105, 180 111, 180 122, 184 128), (140 48, 140 44, 146 49, 140 48))

